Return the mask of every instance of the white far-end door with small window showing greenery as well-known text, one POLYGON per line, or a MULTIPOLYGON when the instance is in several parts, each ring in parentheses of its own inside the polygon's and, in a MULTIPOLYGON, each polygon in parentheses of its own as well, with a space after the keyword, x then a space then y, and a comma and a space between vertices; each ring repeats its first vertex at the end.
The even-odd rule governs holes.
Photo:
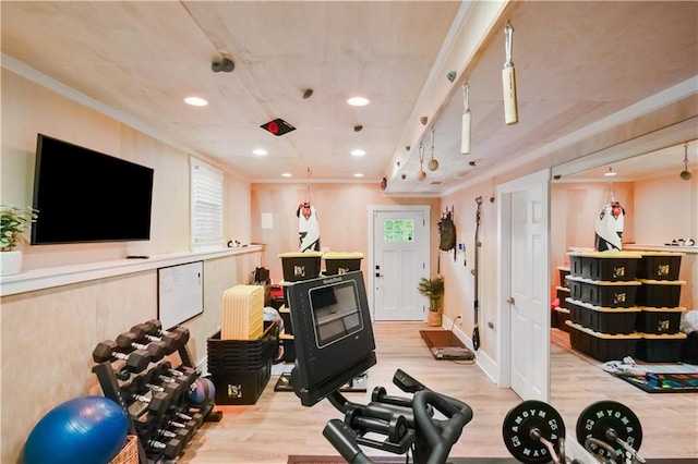
POLYGON ((373 319, 424 320, 428 303, 417 285, 429 268, 429 207, 370 208, 369 215, 373 319))

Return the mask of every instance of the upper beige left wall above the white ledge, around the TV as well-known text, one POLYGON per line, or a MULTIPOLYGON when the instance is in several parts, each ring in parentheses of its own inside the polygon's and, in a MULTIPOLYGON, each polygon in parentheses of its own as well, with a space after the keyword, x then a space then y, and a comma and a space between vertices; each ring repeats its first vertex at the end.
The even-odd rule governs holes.
MULTIPOLYGON (((155 170, 147 242, 24 245, 24 269, 165 255, 190 249, 190 155, 2 69, 2 204, 32 204, 36 134, 44 133, 155 170)), ((205 159, 205 156, 200 156, 205 159)), ((209 161, 209 160, 208 160, 209 161)), ((250 241, 250 184, 225 172, 225 236, 250 241)), ((82 220, 80 205, 67 215, 82 220)))

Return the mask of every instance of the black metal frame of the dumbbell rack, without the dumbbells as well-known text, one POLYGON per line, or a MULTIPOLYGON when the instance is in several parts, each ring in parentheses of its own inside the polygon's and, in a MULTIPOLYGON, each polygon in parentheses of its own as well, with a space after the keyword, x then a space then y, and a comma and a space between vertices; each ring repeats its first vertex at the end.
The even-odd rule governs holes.
MULTIPOLYGON (((191 354, 189 352, 189 349, 186 346, 185 343, 181 344, 178 350, 177 353, 179 354, 180 361, 181 361, 181 365, 179 367, 172 367, 172 369, 193 369, 195 371, 195 375, 192 376, 192 382, 196 380, 196 378, 198 378, 198 376, 201 375, 201 373, 198 373, 192 363, 192 357, 191 354)), ((169 357, 169 356, 167 356, 169 357)), ((147 375, 148 373, 153 373, 155 371, 154 369, 160 369, 163 366, 165 366, 165 363, 168 362, 167 357, 163 358, 161 361, 159 361, 158 363, 151 363, 148 365, 148 367, 143 371, 140 373, 141 375, 147 375)), ((176 462, 177 459, 171 460, 171 459, 166 459, 165 455, 157 455, 154 456, 153 454, 151 454, 148 456, 148 453, 146 453, 146 449, 144 443, 146 443, 152 437, 145 435, 143 432, 143 428, 142 427, 136 427, 136 424, 143 424, 143 419, 145 418, 145 422, 147 422, 148 419, 148 415, 151 414, 147 411, 147 407, 142 407, 139 408, 139 411, 134 411, 134 408, 129 407, 129 404, 127 404, 125 401, 125 396, 127 394, 124 393, 124 388, 128 388, 131 386, 131 381, 132 378, 134 378, 133 375, 129 376, 129 379, 127 380, 120 380, 117 377, 117 370, 115 370, 115 365, 119 365, 119 363, 121 363, 121 361, 115 361, 115 362, 104 362, 104 363, 98 363, 96 364, 93 368, 92 371, 97 376, 97 379, 99 381, 99 386, 101 387, 101 391, 104 393, 104 395, 110 400, 113 400, 115 402, 117 402, 122 408, 123 411, 127 413, 127 417, 128 417, 128 429, 129 429, 129 435, 134 435, 139 437, 139 463, 140 464, 159 464, 159 463, 171 463, 171 462, 176 462)), ((184 392, 182 392, 182 395, 184 394, 184 392)), ((218 422, 221 418, 221 413, 217 412, 215 413, 213 411, 214 408, 214 401, 213 399, 210 400, 206 400, 204 401, 202 404, 200 405, 191 405, 190 408, 191 410, 197 410, 197 413, 201 414, 201 416, 203 416, 203 422, 218 422)), ((164 417, 161 420, 165 419, 177 419, 176 414, 177 413, 181 413, 181 411, 178 411, 177 408, 173 410, 170 413, 167 413, 168 417, 164 417)), ((191 437, 193 437, 193 435, 196 432, 196 430, 198 429, 198 427, 201 427, 201 424, 198 424, 198 426, 196 427, 195 430, 193 430, 193 432, 191 434, 191 436, 189 437, 189 439, 191 439, 191 437)), ((165 440, 165 439, 163 439, 165 440)), ((189 443, 183 443, 182 450, 184 448, 186 448, 189 443)))

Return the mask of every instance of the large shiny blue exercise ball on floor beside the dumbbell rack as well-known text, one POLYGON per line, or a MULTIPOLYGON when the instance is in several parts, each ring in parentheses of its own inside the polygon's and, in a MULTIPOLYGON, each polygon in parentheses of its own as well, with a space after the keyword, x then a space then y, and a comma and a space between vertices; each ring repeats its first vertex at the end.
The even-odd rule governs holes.
POLYGON ((104 396, 69 400, 34 426, 24 445, 25 464, 106 464, 121 451, 127 414, 104 396))

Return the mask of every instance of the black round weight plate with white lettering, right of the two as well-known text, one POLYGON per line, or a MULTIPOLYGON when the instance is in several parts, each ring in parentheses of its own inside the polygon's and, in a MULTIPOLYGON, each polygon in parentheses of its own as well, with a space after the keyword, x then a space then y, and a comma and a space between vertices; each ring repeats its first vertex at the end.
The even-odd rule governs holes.
POLYGON ((616 401, 599 401, 581 412, 577 419, 577 441, 591 453, 612 459, 622 456, 624 454, 623 447, 609 438, 606 435, 609 429, 615 430, 618 438, 635 451, 640 449, 640 444, 642 444, 640 420, 629 407, 616 401), (615 455, 610 455, 607 450, 593 442, 586 447, 588 438, 595 438, 609 443, 616 451, 615 455))

